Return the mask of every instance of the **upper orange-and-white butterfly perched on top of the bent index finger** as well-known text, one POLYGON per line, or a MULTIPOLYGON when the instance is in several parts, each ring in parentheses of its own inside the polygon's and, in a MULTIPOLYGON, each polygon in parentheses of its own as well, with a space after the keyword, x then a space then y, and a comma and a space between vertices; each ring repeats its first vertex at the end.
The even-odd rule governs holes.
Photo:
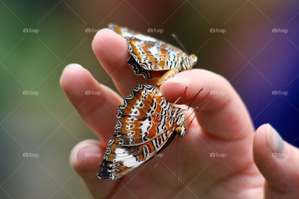
POLYGON ((135 74, 142 75, 145 79, 160 79, 158 87, 178 72, 191 69, 197 62, 196 55, 187 55, 181 49, 159 39, 115 24, 109 24, 108 28, 128 42, 131 54, 128 64, 135 74))

